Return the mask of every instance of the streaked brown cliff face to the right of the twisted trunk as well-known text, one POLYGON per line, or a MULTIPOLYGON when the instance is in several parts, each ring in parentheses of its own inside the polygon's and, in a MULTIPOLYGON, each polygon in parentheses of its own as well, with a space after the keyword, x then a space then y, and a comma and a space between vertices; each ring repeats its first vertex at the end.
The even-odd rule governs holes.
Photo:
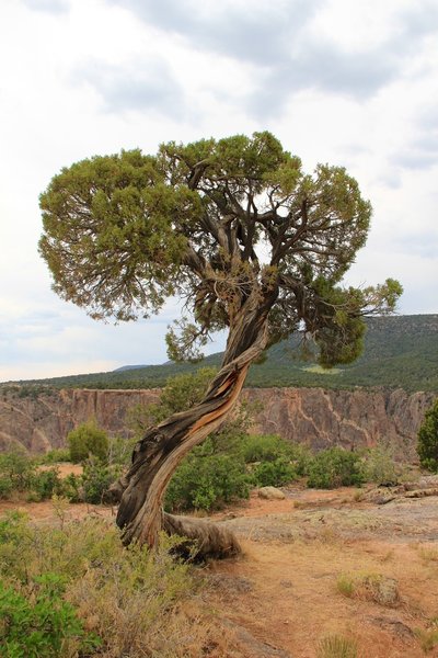
POLYGON ((323 388, 246 389, 262 405, 256 430, 277 433, 313 449, 391 445, 400 460, 416 458, 417 432, 431 393, 324 390, 323 388))

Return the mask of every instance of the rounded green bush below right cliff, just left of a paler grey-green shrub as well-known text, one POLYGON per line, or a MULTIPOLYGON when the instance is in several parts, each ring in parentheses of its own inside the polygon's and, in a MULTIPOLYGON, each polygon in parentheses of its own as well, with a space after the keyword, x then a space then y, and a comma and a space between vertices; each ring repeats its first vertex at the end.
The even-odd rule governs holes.
POLYGON ((309 466, 308 487, 334 489, 364 483, 360 456, 342 447, 318 453, 309 466))

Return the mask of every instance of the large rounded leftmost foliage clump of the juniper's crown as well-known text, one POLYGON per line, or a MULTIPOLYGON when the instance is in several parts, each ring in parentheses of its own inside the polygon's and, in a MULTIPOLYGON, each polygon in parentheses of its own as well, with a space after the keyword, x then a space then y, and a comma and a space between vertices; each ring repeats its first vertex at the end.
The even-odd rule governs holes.
POLYGON ((39 249, 55 290, 89 306, 93 317, 118 320, 155 313, 173 294, 186 245, 173 218, 189 220, 199 212, 197 196, 165 185, 155 158, 139 150, 64 169, 42 194, 41 207, 39 249), (87 211, 78 213, 78 204, 87 211), (124 245, 129 249, 115 258, 124 245))

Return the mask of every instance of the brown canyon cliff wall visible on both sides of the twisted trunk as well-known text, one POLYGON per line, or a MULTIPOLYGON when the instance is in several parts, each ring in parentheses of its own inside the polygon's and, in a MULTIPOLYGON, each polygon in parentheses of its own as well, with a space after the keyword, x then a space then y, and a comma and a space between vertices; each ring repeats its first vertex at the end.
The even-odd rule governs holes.
MULTIPOLYGON (((65 389, 37 397, 8 392, 0 398, 0 450, 21 444, 35 453, 66 445, 67 433, 95 419, 111 434, 129 435, 126 413, 159 398, 151 390, 65 389)), ((322 388, 252 388, 250 401, 262 404, 254 430, 278 433, 315 449, 342 445, 394 447, 399 458, 415 460, 416 433, 433 394, 322 388)))

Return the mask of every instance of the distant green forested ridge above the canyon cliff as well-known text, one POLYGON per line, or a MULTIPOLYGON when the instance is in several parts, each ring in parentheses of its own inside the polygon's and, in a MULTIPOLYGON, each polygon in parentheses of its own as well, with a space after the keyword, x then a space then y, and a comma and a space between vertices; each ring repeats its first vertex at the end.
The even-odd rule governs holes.
MULTIPOLYGON (((247 386, 323 388, 385 387, 406 392, 438 393, 438 315, 412 315, 367 318, 364 354, 353 364, 322 371, 300 359, 298 336, 270 348, 266 361, 253 365, 247 386)), ((221 354, 212 354, 197 364, 123 366, 110 373, 71 375, 49 379, 18 382, 76 388, 154 388, 180 373, 218 366, 221 354)))

